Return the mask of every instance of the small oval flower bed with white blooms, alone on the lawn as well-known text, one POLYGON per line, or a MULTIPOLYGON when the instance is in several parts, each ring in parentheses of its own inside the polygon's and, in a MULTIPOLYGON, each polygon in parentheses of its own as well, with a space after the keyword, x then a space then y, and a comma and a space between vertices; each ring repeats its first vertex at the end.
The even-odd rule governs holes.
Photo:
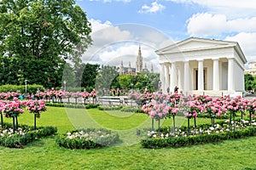
POLYGON ((119 142, 119 134, 107 129, 80 129, 61 134, 56 143, 67 149, 92 149, 113 145, 119 142))

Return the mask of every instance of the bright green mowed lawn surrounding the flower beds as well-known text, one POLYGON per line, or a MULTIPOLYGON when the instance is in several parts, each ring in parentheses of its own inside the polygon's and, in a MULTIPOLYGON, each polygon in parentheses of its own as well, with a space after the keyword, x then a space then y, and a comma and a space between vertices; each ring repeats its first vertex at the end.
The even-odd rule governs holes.
MULTIPOLYGON (((179 124, 187 123, 182 117, 177 119, 179 124)), ((58 133, 76 127, 108 127, 121 133, 125 144, 96 150, 67 150, 55 144, 55 137, 51 136, 27 144, 25 149, 0 147, 0 169, 256 169, 256 137, 150 150, 127 136, 133 135, 137 128, 151 127, 151 120, 143 114, 49 107, 37 122, 38 126, 58 127, 58 133)), ((32 114, 21 115, 19 123, 33 125, 32 114)), ((171 120, 163 121, 162 126, 170 125, 171 120)))

